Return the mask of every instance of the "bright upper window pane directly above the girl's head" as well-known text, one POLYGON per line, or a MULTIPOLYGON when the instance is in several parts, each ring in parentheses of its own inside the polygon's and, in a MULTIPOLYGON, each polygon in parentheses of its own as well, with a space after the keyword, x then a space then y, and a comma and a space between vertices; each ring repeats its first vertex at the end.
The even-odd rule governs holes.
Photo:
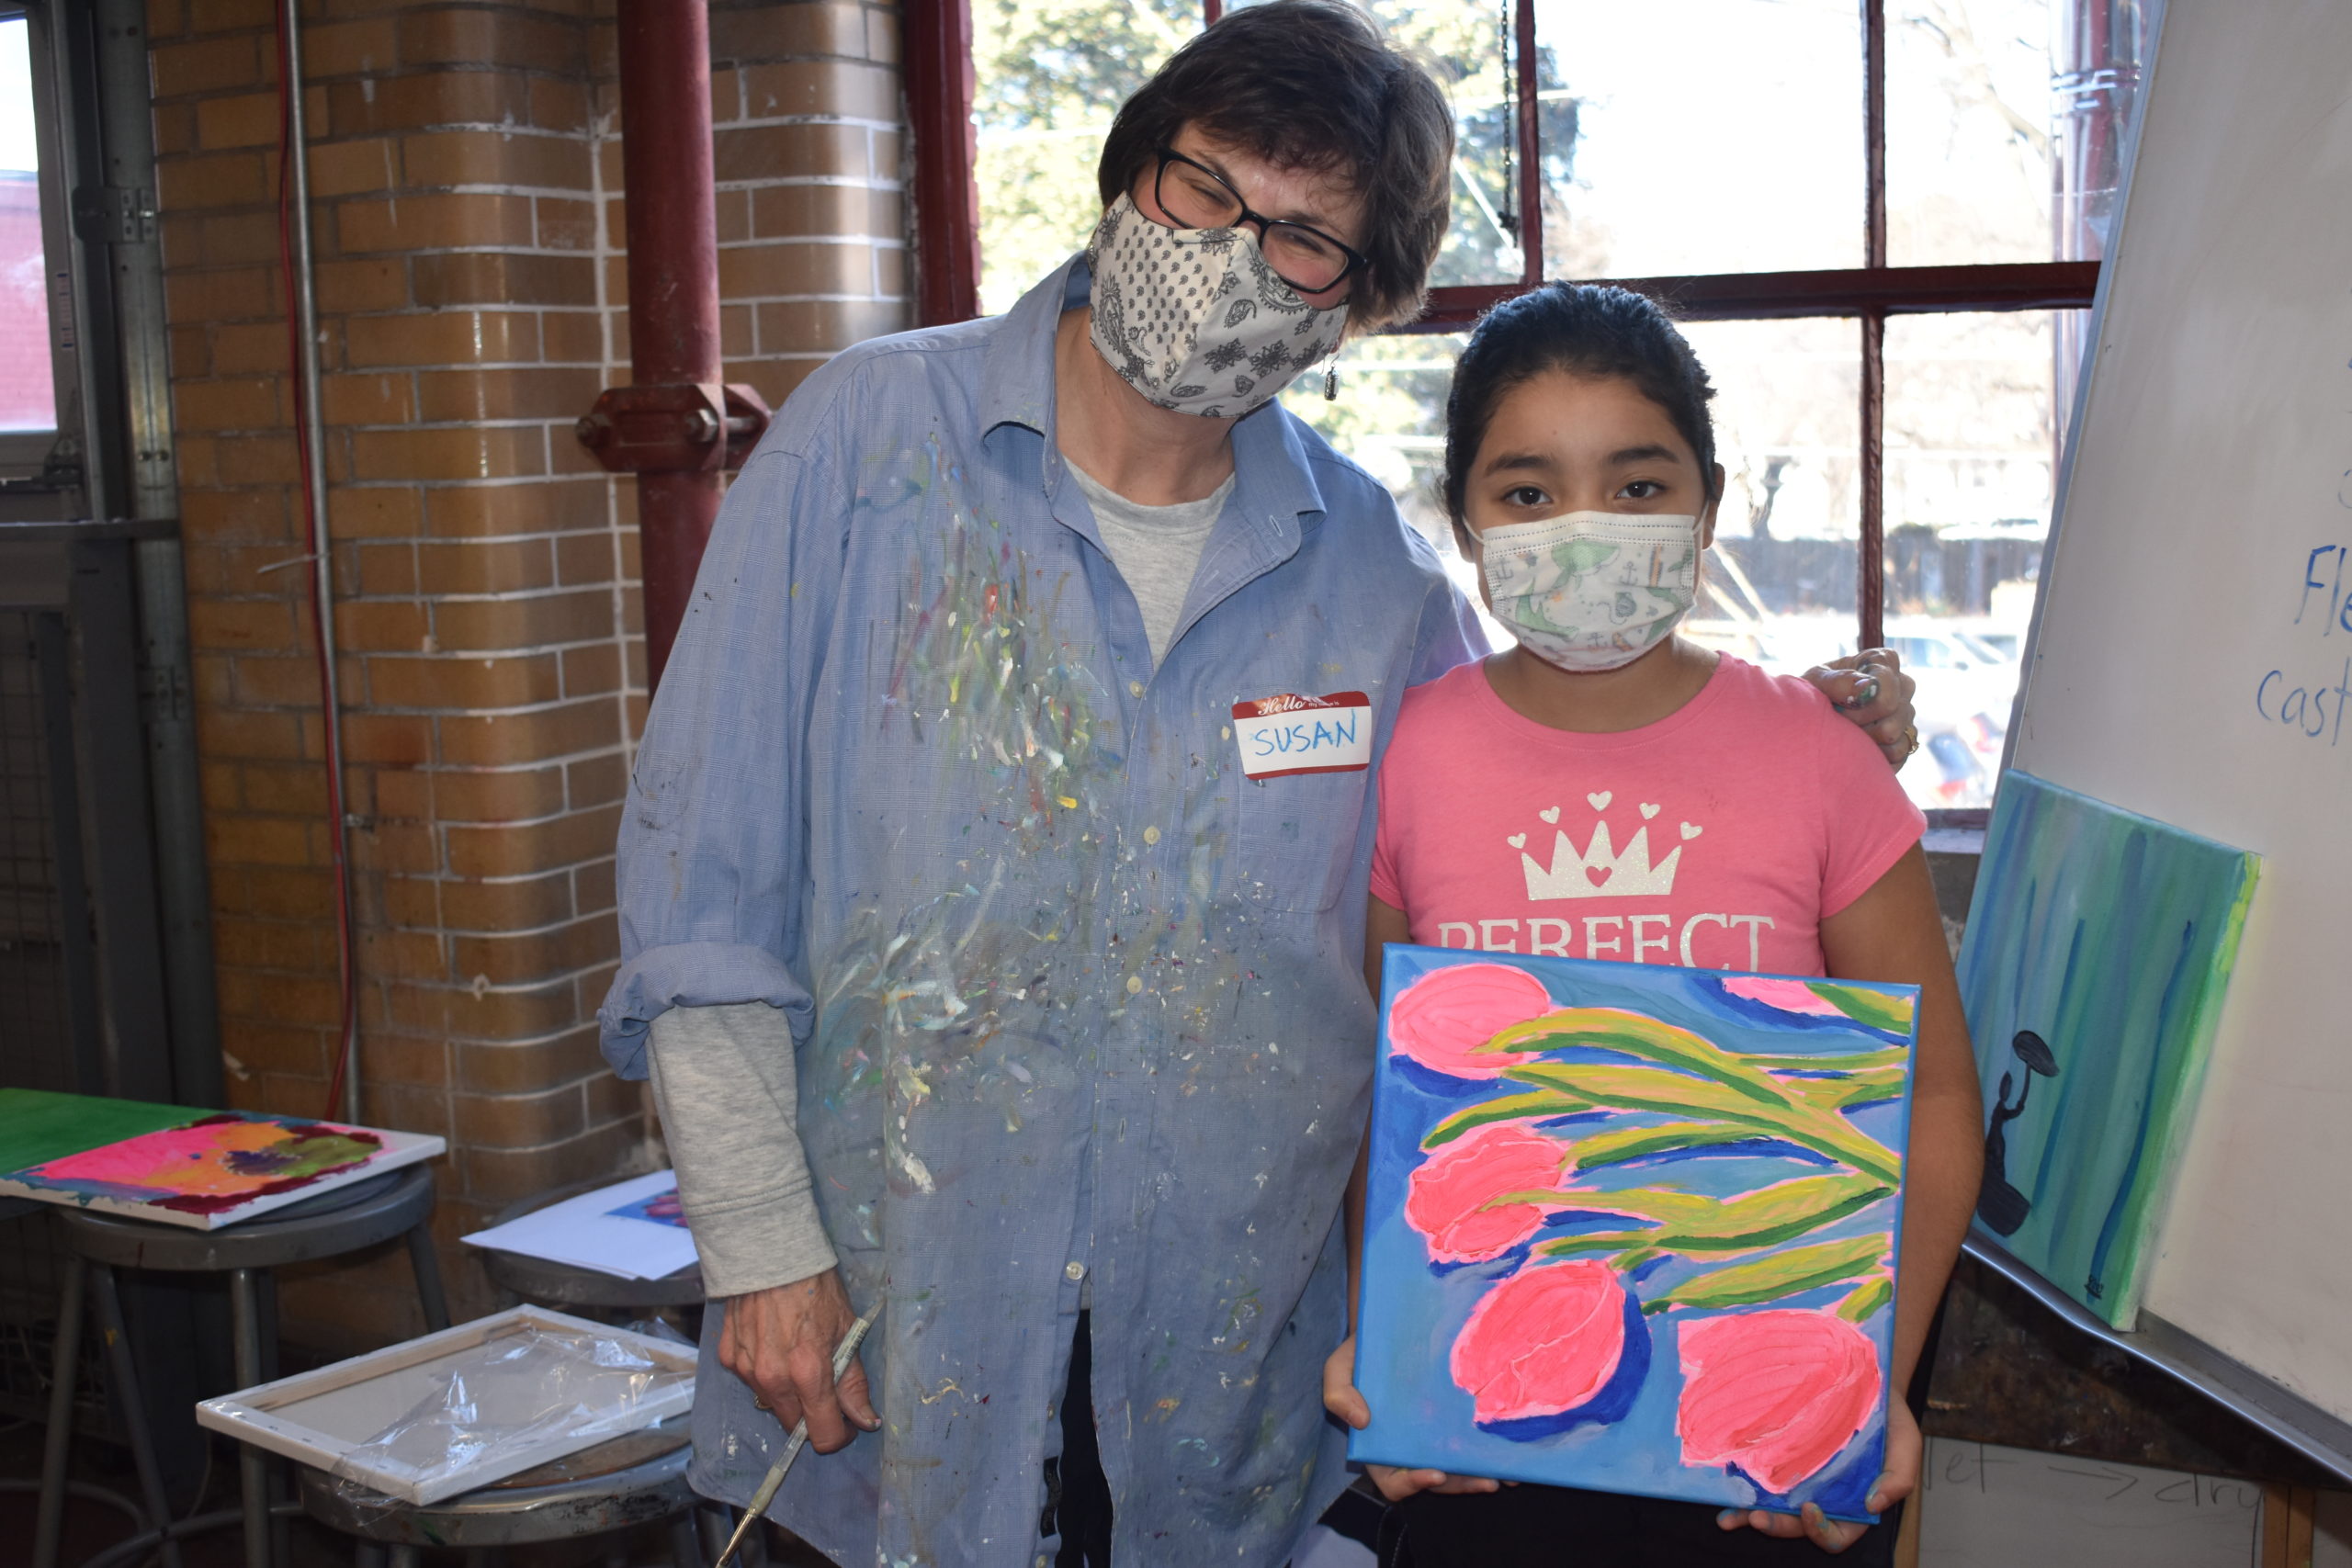
POLYGON ((1566 129, 1545 148, 1564 165, 1545 193, 1548 275, 1863 263, 1853 0, 1536 0, 1536 38, 1566 129))

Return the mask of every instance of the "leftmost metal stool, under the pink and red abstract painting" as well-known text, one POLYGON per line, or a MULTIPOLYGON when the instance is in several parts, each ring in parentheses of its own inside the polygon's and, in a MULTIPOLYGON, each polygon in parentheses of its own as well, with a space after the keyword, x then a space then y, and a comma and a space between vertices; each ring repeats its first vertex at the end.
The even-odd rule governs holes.
MULTIPOLYGON (((416 1300, 428 1328, 449 1326, 440 1262, 433 1255, 433 1173, 426 1166, 388 1171, 315 1199, 289 1204, 259 1220, 221 1229, 183 1229, 153 1220, 129 1220, 87 1208, 54 1208, 66 1241, 66 1291, 56 1316, 56 1356, 49 1375, 49 1432, 40 1462, 40 1521, 33 1530, 33 1568, 56 1568, 59 1530, 66 1523, 66 1443, 73 1434, 73 1380, 82 1338, 82 1295, 89 1288, 106 1340, 106 1363, 129 1427, 132 1465, 141 1500, 158 1521, 169 1521, 162 1474, 148 1436, 139 1375, 122 1331, 122 1295, 115 1269, 162 1269, 172 1274, 228 1274, 235 1324, 238 1387, 249 1389, 278 1375, 278 1291, 270 1269, 355 1253, 362 1246, 407 1234, 416 1300)), ((238 1453, 245 1500, 245 1563, 270 1568, 268 1455, 252 1443, 238 1453)), ((181 1568, 179 1544, 162 1540, 165 1568, 181 1568)))

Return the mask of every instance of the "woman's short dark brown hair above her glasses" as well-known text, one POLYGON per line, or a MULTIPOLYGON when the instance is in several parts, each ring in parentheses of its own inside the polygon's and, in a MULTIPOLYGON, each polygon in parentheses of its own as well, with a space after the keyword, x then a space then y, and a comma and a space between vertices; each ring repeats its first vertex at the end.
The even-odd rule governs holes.
POLYGON ((1334 174, 1364 197, 1357 249, 1371 270, 1350 327, 1421 315, 1446 235, 1454 115, 1437 82, 1338 0, 1225 12, 1120 106, 1096 169, 1112 205, 1185 125, 1277 169, 1334 174))

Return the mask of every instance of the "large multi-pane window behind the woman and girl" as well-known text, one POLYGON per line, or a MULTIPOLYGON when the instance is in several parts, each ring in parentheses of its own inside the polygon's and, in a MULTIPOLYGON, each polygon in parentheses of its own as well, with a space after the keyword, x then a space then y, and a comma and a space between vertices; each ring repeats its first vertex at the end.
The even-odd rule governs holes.
MULTIPOLYGON (((1112 110, 1221 7, 964 2, 1002 310, 1084 244, 1112 110)), ((1442 541, 1477 313, 1548 277, 1672 301, 1729 477, 1691 632, 1780 670, 1898 646, 1905 785, 1990 804, 2154 0, 1359 2, 1454 101, 1454 221, 1425 320, 1291 407, 1442 541)))

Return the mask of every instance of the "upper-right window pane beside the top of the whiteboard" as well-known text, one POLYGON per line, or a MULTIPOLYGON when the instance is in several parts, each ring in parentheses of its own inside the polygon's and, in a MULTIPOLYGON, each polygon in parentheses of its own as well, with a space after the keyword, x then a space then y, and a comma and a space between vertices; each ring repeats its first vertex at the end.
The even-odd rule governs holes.
POLYGON ((1889 5, 1886 259, 2049 261, 2051 106, 2051 0, 1889 5))

